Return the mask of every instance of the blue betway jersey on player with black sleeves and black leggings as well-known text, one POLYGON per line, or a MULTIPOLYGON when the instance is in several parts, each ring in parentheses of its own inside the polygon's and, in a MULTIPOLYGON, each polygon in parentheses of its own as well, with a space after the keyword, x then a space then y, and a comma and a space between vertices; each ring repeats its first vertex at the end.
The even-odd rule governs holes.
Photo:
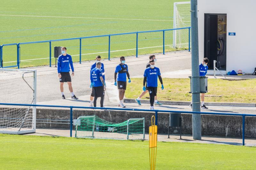
POLYGON ((160 76, 159 68, 155 67, 154 69, 148 67, 144 71, 144 77, 147 77, 147 86, 148 87, 157 87, 157 78, 160 76))

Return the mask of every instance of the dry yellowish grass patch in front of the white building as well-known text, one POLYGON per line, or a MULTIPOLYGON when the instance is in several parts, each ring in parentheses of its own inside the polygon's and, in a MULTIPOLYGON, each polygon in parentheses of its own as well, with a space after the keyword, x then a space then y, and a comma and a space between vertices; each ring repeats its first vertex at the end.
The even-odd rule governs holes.
MULTIPOLYGON (((132 78, 127 86, 125 97, 136 99, 142 92, 143 78, 132 78)), ((164 90, 157 89, 158 100, 191 101, 189 78, 163 78, 164 90)), ((230 81, 223 79, 208 79, 208 93, 205 102, 238 102, 256 103, 256 79, 230 81)), ((158 81, 158 85, 160 82, 158 81)), ((146 94, 142 99, 148 99, 146 94)))

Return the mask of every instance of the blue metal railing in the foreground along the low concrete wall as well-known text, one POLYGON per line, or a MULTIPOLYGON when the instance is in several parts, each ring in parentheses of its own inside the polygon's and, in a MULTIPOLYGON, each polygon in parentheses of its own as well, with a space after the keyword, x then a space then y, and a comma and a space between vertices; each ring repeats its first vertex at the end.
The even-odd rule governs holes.
POLYGON ((158 124, 157 115, 158 113, 187 113, 187 114, 204 114, 204 115, 230 115, 230 116, 242 116, 242 127, 243 127, 243 145, 244 145, 244 133, 245 133, 245 116, 253 116, 250 114, 233 114, 233 113, 208 113, 208 112, 187 112, 187 111, 171 111, 171 110, 146 110, 146 109, 132 109, 132 108, 108 108, 108 107, 79 107, 79 106, 55 106, 55 105, 30 105, 30 104, 13 104, 13 103, 0 103, 0 105, 10 106, 36 106, 36 107, 59 107, 59 108, 70 108, 70 137, 72 137, 72 122, 73 122, 73 108, 80 109, 103 109, 103 110, 123 110, 123 111, 142 111, 142 112, 154 112, 156 117, 156 125, 158 124))

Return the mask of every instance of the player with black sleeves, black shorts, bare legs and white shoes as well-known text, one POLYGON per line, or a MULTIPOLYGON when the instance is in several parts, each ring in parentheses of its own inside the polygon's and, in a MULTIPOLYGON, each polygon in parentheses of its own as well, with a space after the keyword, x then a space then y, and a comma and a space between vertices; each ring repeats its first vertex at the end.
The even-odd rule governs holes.
POLYGON ((128 78, 128 83, 131 83, 130 74, 128 72, 128 66, 125 64, 124 56, 120 57, 120 64, 116 66, 115 75, 114 75, 114 85, 117 85, 118 92, 119 92, 119 107, 125 107, 123 100, 124 100, 124 93, 126 90, 126 76, 128 78), (117 75, 118 73, 118 75, 117 75), (116 75, 117 75, 117 82, 116 82, 116 75))

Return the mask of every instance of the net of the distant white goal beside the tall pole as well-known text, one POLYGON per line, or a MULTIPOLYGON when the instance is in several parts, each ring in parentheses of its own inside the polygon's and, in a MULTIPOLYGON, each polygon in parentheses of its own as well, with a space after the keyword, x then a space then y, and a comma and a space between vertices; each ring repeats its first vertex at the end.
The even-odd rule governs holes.
MULTIPOLYGON (((190 2, 175 2, 173 5, 173 28, 191 26, 190 2)), ((188 29, 173 31, 173 48, 188 48, 188 29)))

